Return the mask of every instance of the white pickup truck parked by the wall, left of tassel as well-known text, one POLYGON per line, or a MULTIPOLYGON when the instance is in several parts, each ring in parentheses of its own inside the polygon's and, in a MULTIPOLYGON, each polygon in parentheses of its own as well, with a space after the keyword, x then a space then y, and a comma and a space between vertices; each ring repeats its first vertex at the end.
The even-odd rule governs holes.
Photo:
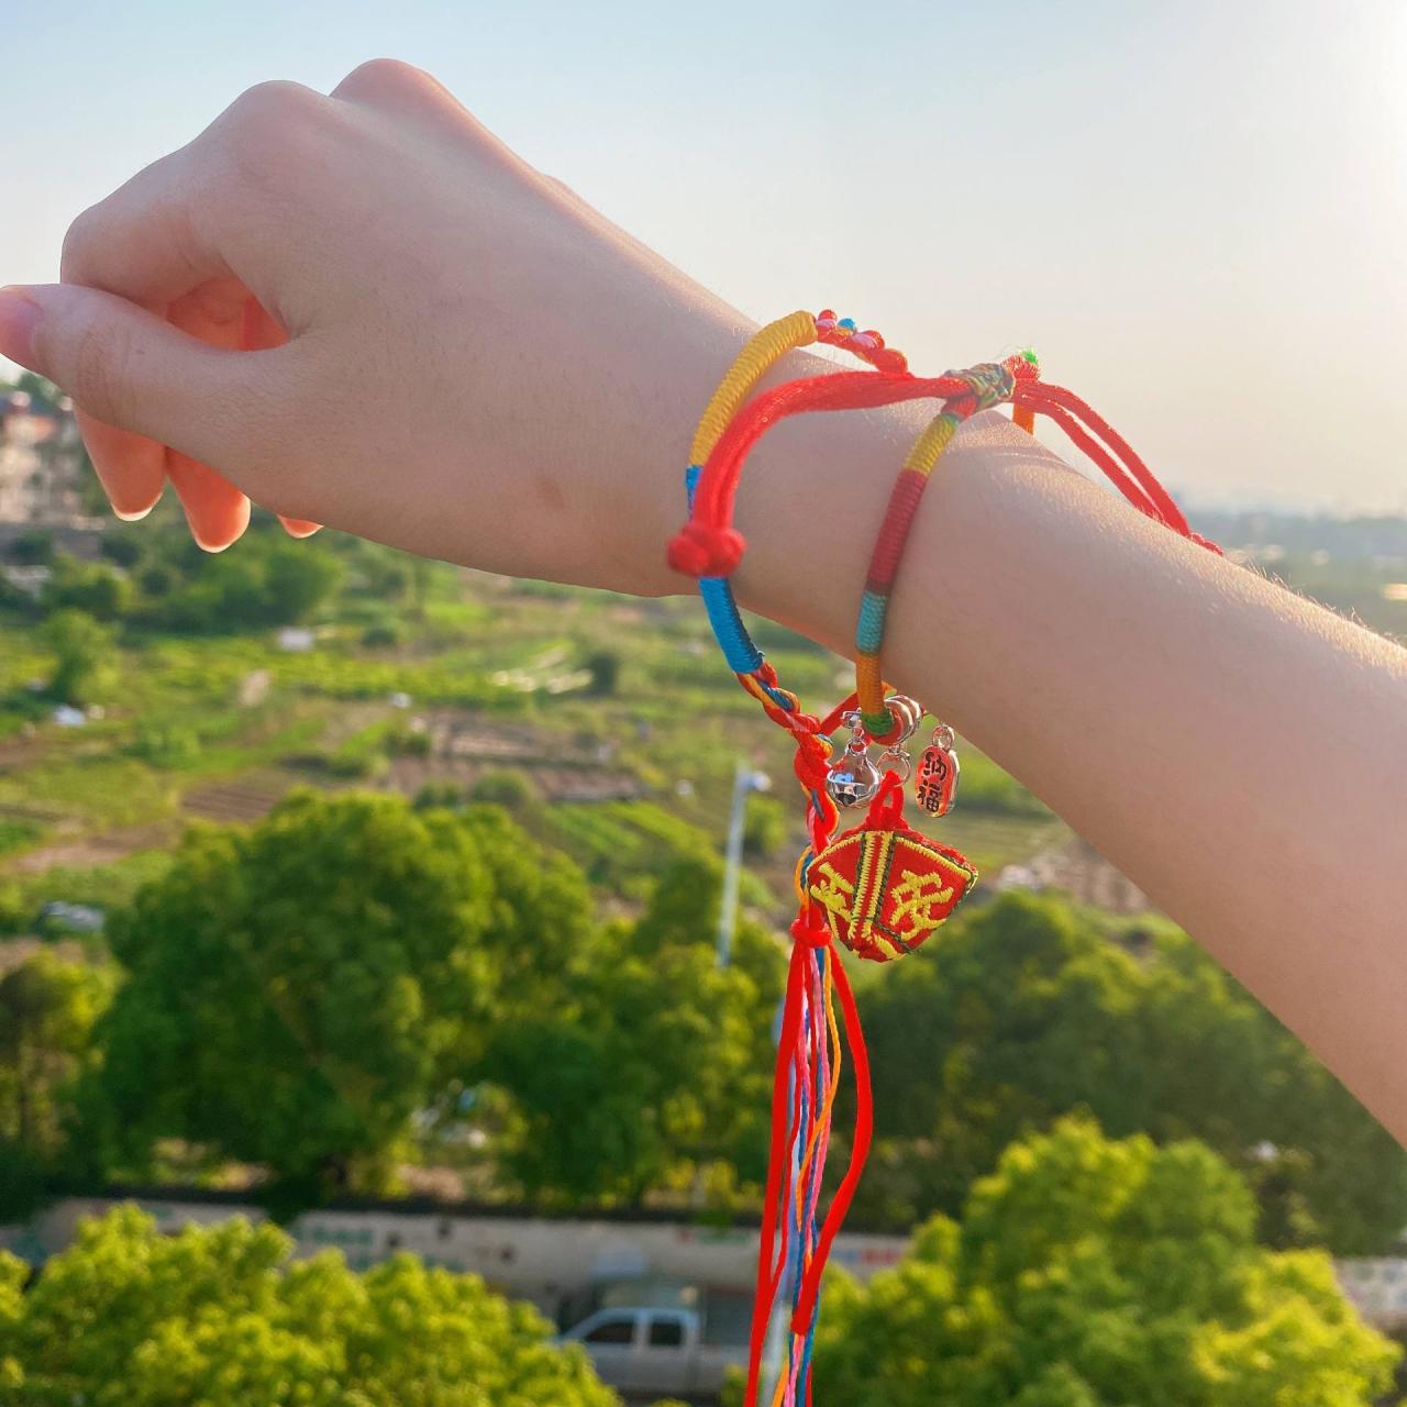
POLYGON ((601 1380, 628 1400, 701 1401, 718 1397, 729 1368, 747 1366, 743 1345, 704 1338, 694 1310, 609 1309, 567 1330, 561 1342, 581 1344, 601 1380))

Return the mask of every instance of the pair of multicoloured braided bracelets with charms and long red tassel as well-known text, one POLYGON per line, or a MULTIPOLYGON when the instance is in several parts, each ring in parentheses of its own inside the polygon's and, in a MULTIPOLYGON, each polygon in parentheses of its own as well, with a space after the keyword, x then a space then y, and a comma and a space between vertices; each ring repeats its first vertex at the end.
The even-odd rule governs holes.
MULTIPOLYGON (((903 822, 903 781, 909 771, 903 743, 923 711, 902 695, 886 696, 879 657, 903 546, 933 469, 962 421, 1003 401, 1012 402, 1013 419, 1023 429, 1034 428, 1037 412, 1054 419, 1134 507, 1213 547, 1190 532, 1162 485, 1103 419, 1072 393, 1040 381, 1033 353, 922 378, 909 373, 903 357, 886 349, 878 333, 857 333, 854 324, 834 319, 829 312, 817 318, 794 314, 763 328, 749 342, 711 400, 694 438, 687 471, 689 521, 670 543, 670 563, 699 578, 729 667, 767 715, 795 737, 795 768, 808 798, 810 839, 796 867, 801 908, 792 924, 795 941, 772 1083, 772 1137, 744 1396, 749 1407, 757 1403, 772 1307, 788 1280, 791 1332, 772 1404, 792 1407, 810 1400, 820 1276, 870 1147, 872 1109, 864 1034, 844 965, 832 943, 839 940, 858 957, 878 961, 910 953, 944 922, 976 879, 962 855, 903 822), (761 376, 785 352, 812 340, 847 346, 874 370, 837 371, 753 394, 761 376), (940 400, 943 407, 915 442, 891 490, 861 598, 855 694, 819 719, 805 713, 796 695, 778 682, 747 635, 727 581, 746 550, 732 525, 741 469, 763 433, 788 415, 924 397, 940 400), (851 725, 851 737, 827 763, 826 737, 840 722, 851 725), (886 747, 879 768, 868 760, 872 743, 886 747), (837 805, 864 801, 870 801, 864 820, 834 836, 837 805), (850 1165, 822 1223, 820 1183, 841 1058, 836 998, 854 1065, 855 1127, 850 1165)), ((941 815, 953 799, 957 758, 951 744, 951 730, 940 725, 919 772, 919 801, 934 815, 941 815)))

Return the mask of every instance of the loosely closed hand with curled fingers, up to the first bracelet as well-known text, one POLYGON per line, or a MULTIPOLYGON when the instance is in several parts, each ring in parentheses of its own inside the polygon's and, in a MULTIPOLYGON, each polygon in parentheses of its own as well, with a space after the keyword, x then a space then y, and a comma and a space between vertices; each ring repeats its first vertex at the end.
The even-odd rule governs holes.
POLYGON ((211 550, 252 498, 298 535, 688 587, 663 543, 739 319, 416 69, 252 89, 80 215, 62 279, 0 297, 0 350, 75 398, 120 516, 170 478, 211 550))

